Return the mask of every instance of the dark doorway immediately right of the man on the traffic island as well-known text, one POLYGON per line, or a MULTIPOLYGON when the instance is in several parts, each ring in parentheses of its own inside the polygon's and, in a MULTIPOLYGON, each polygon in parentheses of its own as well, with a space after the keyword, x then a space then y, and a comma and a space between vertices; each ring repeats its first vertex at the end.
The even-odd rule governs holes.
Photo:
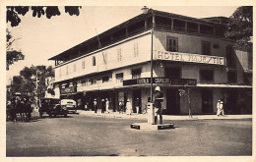
POLYGON ((178 89, 166 89, 166 109, 163 114, 180 114, 178 89))

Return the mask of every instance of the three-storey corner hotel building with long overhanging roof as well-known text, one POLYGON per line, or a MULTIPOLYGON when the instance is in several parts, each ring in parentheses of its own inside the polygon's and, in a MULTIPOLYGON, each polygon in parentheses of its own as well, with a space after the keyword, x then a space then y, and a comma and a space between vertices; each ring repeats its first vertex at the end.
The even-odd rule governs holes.
POLYGON ((163 92, 164 114, 215 114, 218 99, 226 114, 252 113, 252 51, 234 49, 226 25, 153 9, 68 49, 55 61, 60 98, 94 110, 96 99, 140 104, 147 110, 153 86, 163 92), (188 94, 189 93, 189 94, 188 94), (189 104, 190 100, 190 104, 189 104), (86 106, 85 106, 86 105, 86 106))

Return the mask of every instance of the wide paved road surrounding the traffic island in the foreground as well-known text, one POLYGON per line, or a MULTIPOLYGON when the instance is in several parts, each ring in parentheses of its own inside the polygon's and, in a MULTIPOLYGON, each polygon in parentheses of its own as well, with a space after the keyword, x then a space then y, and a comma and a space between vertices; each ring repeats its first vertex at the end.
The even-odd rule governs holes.
MULTIPOLYGON (((34 117, 33 117, 34 118, 34 117)), ((6 156, 251 156, 251 120, 165 121, 175 129, 138 131, 146 122, 70 115, 7 122, 6 156)))

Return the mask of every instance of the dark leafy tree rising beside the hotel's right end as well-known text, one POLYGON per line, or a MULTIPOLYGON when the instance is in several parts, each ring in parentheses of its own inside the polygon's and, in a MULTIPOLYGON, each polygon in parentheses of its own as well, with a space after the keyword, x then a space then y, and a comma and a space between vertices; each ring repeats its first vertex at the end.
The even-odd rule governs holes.
POLYGON ((252 40, 252 27, 252 6, 241 6, 229 18, 227 31, 224 35, 236 40, 237 47, 248 46, 252 40))

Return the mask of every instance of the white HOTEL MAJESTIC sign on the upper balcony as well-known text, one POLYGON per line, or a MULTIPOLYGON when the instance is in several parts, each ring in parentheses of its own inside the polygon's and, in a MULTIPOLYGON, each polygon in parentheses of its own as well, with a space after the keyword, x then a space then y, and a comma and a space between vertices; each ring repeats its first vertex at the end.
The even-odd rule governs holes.
POLYGON ((190 63, 203 63, 203 64, 215 64, 225 65, 224 57, 209 56, 209 55, 198 55, 190 53, 180 52, 168 52, 168 51, 156 51, 157 60, 170 60, 190 63))

